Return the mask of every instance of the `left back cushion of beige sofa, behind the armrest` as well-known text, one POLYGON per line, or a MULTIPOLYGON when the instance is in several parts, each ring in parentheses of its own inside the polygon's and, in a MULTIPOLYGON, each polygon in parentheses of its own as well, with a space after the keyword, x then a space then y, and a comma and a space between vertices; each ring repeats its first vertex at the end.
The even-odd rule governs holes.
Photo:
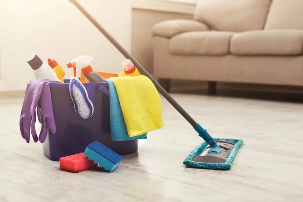
POLYGON ((199 0, 194 19, 218 31, 263 29, 271 0, 199 0))

